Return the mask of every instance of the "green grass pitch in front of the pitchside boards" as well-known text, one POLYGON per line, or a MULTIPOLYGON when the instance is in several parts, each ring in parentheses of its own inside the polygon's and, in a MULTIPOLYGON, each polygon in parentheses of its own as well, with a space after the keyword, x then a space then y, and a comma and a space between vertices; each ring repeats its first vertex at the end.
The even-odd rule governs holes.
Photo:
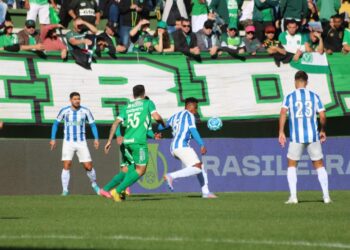
POLYGON ((0 196, 0 249, 350 249, 350 192, 0 196))

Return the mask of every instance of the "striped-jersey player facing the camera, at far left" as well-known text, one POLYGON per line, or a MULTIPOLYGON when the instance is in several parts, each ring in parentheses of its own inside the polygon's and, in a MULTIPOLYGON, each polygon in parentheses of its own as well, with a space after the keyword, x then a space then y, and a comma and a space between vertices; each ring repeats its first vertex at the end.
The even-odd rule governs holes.
POLYGON ((74 153, 77 153, 79 162, 83 164, 87 176, 91 181, 91 186, 94 191, 99 194, 99 187, 96 184, 96 172, 92 167, 92 160, 86 142, 85 123, 90 124, 95 141, 96 149, 99 147, 98 131, 94 117, 91 111, 80 105, 80 94, 73 92, 70 94, 71 105, 62 108, 58 113, 57 119, 52 126, 51 132, 51 150, 56 147, 56 133, 60 122, 64 121, 64 139, 62 147, 63 170, 61 175, 62 195, 68 195, 68 185, 70 179, 70 168, 74 153))

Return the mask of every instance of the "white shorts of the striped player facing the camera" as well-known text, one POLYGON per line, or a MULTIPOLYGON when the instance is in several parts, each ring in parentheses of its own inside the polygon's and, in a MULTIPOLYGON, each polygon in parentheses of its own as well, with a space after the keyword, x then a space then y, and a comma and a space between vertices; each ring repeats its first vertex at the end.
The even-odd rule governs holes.
POLYGON ((77 152, 80 163, 92 161, 86 141, 64 141, 62 147, 62 161, 71 161, 74 157, 75 152, 77 152))

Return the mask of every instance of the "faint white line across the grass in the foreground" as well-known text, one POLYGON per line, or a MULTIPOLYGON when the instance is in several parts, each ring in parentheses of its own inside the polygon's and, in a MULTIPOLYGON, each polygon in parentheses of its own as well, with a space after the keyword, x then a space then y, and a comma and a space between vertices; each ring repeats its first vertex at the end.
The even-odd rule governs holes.
POLYGON ((253 239, 191 239, 183 237, 142 237, 128 235, 112 235, 101 237, 79 236, 79 235, 0 235, 0 240, 126 240, 126 241, 153 241, 153 242, 205 242, 212 244, 229 244, 229 245, 270 245, 270 246, 296 246, 296 247, 313 247, 313 248, 330 248, 330 249, 350 249, 350 244, 340 242, 309 242, 309 241, 275 241, 275 240, 253 240, 253 239))

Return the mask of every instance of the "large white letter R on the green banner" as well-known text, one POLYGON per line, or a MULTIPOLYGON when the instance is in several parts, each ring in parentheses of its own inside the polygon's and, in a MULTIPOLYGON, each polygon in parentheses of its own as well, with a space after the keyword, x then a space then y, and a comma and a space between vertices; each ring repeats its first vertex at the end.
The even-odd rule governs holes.
POLYGON ((139 64, 93 64, 86 70, 75 63, 40 62, 38 72, 50 75, 54 106, 44 107, 44 119, 56 118, 59 110, 68 105, 68 96, 79 91, 82 105, 91 109, 96 120, 113 121, 113 109, 102 106, 102 98, 132 98, 132 87, 143 84, 146 94, 154 101, 163 117, 179 110, 176 94, 167 90, 175 87, 172 73, 139 64), (74 72, 74 74, 72 74, 74 72), (126 84, 99 84, 99 77, 124 77, 126 84))

